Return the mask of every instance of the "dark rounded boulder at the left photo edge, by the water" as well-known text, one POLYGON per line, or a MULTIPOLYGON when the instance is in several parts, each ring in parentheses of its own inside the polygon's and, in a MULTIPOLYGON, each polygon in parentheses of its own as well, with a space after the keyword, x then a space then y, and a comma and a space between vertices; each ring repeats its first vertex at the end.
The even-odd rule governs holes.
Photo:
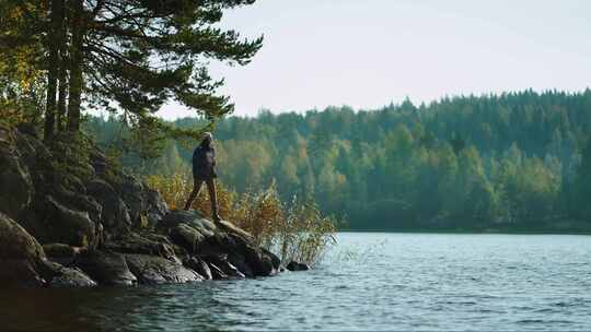
POLYGON ((36 268, 44 259, 39 242, 0 212, 0 286, 43 285, 36 268))

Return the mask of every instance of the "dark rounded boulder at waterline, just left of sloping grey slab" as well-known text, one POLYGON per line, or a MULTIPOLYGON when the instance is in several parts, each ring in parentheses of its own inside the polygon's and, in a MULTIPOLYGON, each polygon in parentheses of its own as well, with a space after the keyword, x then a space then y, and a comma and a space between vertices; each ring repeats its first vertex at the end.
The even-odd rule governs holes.
POLYGON ((131 286, 137 277, 129 271, 121 253, 93 251, 77 258, 74 266, 82 270, 101 285, 131 286))

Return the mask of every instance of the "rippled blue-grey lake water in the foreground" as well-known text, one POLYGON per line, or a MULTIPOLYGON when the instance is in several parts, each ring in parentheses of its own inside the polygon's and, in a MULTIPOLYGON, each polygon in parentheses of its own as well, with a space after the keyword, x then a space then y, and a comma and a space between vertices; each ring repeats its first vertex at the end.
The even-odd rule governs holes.
POLYGON ((591 330, 591 237, 338 235, 315 270, 2 290, 0 330, 591 330))

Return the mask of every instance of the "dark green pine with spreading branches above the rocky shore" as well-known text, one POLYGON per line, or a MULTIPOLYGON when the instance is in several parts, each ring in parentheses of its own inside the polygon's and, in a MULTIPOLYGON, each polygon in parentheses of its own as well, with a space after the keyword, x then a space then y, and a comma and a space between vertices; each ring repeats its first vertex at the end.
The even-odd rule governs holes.
POLYGON ((56 112, 62 128, 66 104, 73 132, 80 130, 88 105, 121 114, 131 127, 195 137, 194 130, 175 130, 153 119, 154 112, 167 100, 209 120, 233 110, 229 98, 217 94, 223 80, 213 80, 206 63, 245 64, 260 48, 262 37, 243 39, 215 26, 224 10, 253 2, 7 0, 0 16, 7 14, 3 21, 11 24, 1 25, 0 45, 28 46, 45 55, 31 63, 47 73, 46 137, 56 129, 56 112), (14 13, 19 16, 11 19, 14 13))

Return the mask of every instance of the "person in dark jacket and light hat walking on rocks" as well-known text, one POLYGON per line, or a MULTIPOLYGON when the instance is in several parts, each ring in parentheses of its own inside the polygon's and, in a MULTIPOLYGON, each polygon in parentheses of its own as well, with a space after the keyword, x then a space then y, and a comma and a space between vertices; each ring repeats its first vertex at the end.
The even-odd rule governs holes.
POLYGON ((211 202, 211 217, 215 222, 220 221, 218 214, 218 198, 216 195, 216 149, 213 147, 213 135, 210 132, 204 134, 201 144, 193 152, 193 191, 185 204, 185 210, 189 210, 195 198, 201 190, 201 185, 206 182, 211 202))

